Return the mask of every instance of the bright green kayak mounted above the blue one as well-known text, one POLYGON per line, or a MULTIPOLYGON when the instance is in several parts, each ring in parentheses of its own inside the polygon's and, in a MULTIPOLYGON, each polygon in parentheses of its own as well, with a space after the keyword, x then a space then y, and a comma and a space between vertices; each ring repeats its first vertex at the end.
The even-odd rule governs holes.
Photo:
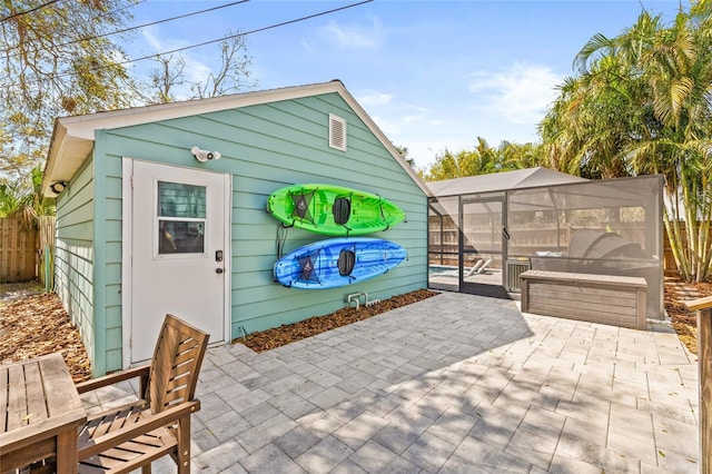
POLYGON ((277 189, 267 211, 285 226, 329 236, 377 233, 405 219, 398 206, 378 195, 333 185, 277 189))

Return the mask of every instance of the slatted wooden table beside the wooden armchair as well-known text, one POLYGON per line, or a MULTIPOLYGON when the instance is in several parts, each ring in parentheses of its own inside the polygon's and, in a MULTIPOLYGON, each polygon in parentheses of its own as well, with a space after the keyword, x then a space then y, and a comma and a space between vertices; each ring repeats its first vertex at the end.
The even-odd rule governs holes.
POLYGON ((87 421, 61 354, 0 365, 0 471, 57 457, 77 472, 77 428, 87 421))

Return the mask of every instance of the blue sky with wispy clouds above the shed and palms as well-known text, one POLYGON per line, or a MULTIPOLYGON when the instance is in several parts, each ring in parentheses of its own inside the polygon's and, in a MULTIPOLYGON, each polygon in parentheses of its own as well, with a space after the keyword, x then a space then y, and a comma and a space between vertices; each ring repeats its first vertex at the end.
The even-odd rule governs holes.
MULTIPOLYGON (((131 57, 167 51, 356 2, 251 0, 146 28, 127 51, 131 57)), ((132 23, 225 3, 147 0, 132 9, 132 23)), ((247 52, 256 89, 340 79, 386 136, 425 167, 446 148, 473 148, 477 137, 491 146, 536 141, 536 125, 556 97, 556 85, 573 75, 572 61, 592 36, 619 34, 643 7, 670 22, 679 6, 676 0, 375 0, 249 34, 247 52)), ((196 77, 219 65, 217 46, 181 55, 196 77)))

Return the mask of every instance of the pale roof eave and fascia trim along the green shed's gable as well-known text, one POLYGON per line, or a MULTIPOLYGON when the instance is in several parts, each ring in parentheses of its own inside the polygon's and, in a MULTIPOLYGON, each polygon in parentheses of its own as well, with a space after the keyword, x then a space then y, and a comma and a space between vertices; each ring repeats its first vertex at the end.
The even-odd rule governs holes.
POLYGON ((429 188, 425 186, 425 182, 413 170, 413 167, 403 159, 395 146, 346 90, 340 80, 57 118, 44 167, 42 191, 48 197, 55 197, 49 186, 57 181, 69 181, 75 176, 93 149, 97 130, 145 125, 325 93, 338 93, 378 138, 400 167, 413 178, 415 184, 426 195, 431 195, 429 188))

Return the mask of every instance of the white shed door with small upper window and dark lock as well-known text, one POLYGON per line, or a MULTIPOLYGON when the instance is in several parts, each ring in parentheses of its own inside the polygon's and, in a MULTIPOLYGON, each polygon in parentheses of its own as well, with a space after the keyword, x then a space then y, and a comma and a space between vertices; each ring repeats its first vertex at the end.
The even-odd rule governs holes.
POLYGON ((132 161, 130 363, 167 313, 225 340, 226 175, 132 161))

